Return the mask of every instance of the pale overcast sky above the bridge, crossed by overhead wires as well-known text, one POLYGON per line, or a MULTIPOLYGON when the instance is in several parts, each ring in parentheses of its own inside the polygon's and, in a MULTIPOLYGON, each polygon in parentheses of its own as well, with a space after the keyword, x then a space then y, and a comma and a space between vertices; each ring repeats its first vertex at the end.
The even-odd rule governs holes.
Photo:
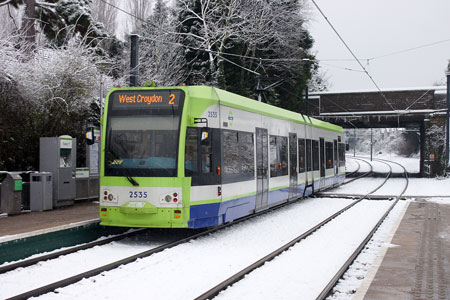
MULTIPOLYGON (((309 0, 308 0, 309 1, 309 0)), ((311 3, 308 25, 314 51, 330 90, 375 90, 368 76, 311 3)), ((358 58, 373 58, 443 40, 369 61, 367 70, 381 89, 445 84, 450 59, 450 0, 316 0, 358 58)), ((363 61, 367 65, 367 61, 363 61)))

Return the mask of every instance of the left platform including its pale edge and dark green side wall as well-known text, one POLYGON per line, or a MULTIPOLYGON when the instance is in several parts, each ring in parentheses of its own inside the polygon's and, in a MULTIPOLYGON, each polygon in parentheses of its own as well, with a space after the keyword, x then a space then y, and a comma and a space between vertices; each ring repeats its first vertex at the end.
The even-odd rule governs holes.
MULTIPOLYGON (((0 218, 0 265, 37 253, 87 243, 115 233, 104 229, 98 202, 75 202, 51 211, 0 218)), ((120 231, 120 230, 119 230, 120 231)))

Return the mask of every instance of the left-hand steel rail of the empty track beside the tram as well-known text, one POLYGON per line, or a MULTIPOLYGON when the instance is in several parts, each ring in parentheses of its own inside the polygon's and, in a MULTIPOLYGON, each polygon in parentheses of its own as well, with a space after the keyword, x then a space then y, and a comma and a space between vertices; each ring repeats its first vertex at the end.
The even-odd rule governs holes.
POLYGON ((258 261, 252 263, 251 265, 247 266, 246 268, 242 269, 241 271, 237 272, 236 274, 234 274, 234 275, 230 276, 229 278, 225 279, 224 281, 222 281, 221 283, 217 284, 213 288, 209 289, 208 291, 204 292, 200 296, 196 297, 194 300, 206 300, 206 299, 214 298, 221 291, 225 290, 227 287, 229 287, 229 286, 233 285, 234 283, 240 281, 242 278, 244 278, 245 275, 247 275, 247 274, 251 273, 252 271, 254 271, 255 269, 261 267, 266 262, 269 262, 269 261, 273 260, 275 257, 279 256, 280 254, 282 254, 283 252, 285 252, 286 250, 288 250, 289 248, 291 248, 295 244, 299 243, 300 241, 304 240, 308 236, 312 235, 314 232, 319 230, 322 226, 324 226, 325 224, 329 223, 331 220, 333 220, 334 218, 336 218, 337 216, 339 216, 343 212, 349 210, 351 207, 355 206, 356 204, 358 204, 359 202, 364 200, 368 195, 370 195, 370 194, 376 192, 377 190, 379 190, 386 183, 386 181, 389 179, 389 177, 391 176, 391 173, 392 173, 392 168, 390 169, 390 172, 387 173, 386 179, 383 181, 383 183, 381 185, 379 185, 378 187, 376 187, 374 190, 370 191, 369 193, 367 193, 364 196, 361 196, 359 199, 357 199, 353 203, 351 203, 351 204, 347 205, 346 207, 342 208, 341 210, 339 210, 338 212, 334 213, 330 217, 326 218, 325 220, 323 220, 319 224, 311 227, 306 232, 302 233, 298 237, 296 237, 293 240, 291 240, 290 242, 284 244, 283 246, 281 246, 280 248, 278 248, 275 251, 271 252, 270 254, 264 256, 263 258, 261 258, 258 261))

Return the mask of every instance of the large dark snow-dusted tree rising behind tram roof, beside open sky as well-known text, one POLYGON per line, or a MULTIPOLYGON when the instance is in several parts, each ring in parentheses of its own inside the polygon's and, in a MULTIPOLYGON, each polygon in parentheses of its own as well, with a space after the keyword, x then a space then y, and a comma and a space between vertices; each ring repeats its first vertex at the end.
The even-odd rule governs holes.
POLYGON ((209 84, 255 97, 258 81, 278 106, 299 111, 313 40, 302 0, 178 0, 188 84, 209 84), (255 73, 261 74, 257 76, 255 73), (282 97, 280 97, 282 95, 282 97))

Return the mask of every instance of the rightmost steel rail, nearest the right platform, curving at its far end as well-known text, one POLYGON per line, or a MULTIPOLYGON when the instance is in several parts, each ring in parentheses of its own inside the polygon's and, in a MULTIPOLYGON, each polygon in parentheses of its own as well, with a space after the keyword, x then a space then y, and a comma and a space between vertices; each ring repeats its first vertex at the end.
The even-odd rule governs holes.
MULTIPOLYGON (((378 160, 378 159, 377 159, 378 160)), ((406 192, 408 185, 409 185, 409 179, 408 179, 408 172, 406 171, 406 168, 402 166, 401 164, 397 162, 392 162, 388 160, 378 160, 380 162, 389 162, 394 163, 403 168, 404 176, 406 179, 406 184, 403 190, 400 192, 398 196, 396 196, 396 199, 394 203, 388 208, 388 210, 384 213, 384 215, 380 218, 380 220, 375 224, 375 226, 372 228, 372 230, 369 232, 369 234, 366 236, 366 238, 359 244, 359 246, 355 249, 355 251, 352 253, 352 255, 347 259, 345 264, 342 265, 342 267, 339 269, 339 271, 333 276, 333 278, 329 281, 329 283, 325 286, 325 288, 322 290, 322 292, 317 296, 317 300, 322 300, 328 297, 333 290, 333 287, 336 286, 339 279, 342 278, 342 276, 347 272, 347 270, 350 268, 350 265, 353 263, 353 261, 358 257, 358 255, 361 253, 361 251, 365 248, 367 243, 372 239, 375 232, 378 230, 378 228, 381 226, 381 224, 384 222, 386 217, 389 215, 389 213, 392 211, 392 209, 397 205, 398 201, 400 201, 403 194, 406 192)), ((391 167, 392 171, 392 167, 391 167)))

